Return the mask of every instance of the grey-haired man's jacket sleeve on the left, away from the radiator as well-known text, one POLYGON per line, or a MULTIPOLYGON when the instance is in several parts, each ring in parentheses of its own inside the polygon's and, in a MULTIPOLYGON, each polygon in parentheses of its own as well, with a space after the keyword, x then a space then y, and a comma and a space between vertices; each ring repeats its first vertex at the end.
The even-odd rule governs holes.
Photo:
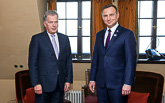
POLYGON ((33 36, 29 45, 28 66, 32 86, 40 84, 38 76, 38 54, 39 44, 36 36, 33 36))

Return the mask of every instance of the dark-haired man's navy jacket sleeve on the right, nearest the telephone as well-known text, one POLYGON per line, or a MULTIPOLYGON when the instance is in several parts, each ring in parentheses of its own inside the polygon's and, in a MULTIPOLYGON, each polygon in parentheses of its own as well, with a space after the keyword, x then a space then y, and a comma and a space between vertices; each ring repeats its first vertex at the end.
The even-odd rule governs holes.
POLYGON ((136 72, 136 39, 132 31, 128 32, 125 40, 125 57, 126 57, 126 69, 125 69, 125 82, 124 84, 133 85, 136 72))

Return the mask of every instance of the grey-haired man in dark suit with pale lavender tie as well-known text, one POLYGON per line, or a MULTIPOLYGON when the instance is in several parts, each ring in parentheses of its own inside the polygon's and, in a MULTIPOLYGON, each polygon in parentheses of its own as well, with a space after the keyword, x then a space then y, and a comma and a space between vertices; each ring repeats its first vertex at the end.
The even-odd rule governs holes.
POLYGON ((64 92, 73 82, 72 57, 68 36, 58 33, 58 14, 44 14, 45 31, 32 37, 29 71, 35 103, 63 103, 64 92))

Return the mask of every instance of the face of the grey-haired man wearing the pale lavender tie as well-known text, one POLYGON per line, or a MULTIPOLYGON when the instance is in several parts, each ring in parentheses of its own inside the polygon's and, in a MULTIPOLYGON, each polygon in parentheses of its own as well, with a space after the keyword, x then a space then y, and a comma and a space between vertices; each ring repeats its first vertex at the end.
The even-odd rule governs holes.
POLYGON ((58 30, 58 17, 57 15, 48 15, 44 26, 48 33, 54 34, 58 30))

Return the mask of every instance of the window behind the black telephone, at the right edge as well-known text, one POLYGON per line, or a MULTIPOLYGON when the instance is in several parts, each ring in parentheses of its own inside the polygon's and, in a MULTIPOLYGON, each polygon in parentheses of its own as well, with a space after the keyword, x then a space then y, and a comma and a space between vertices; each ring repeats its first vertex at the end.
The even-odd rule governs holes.
POLYGON ((152 48, 165 53, 165 0, 138 0, 139 58, 152 48), (147 48, 148 47, 148 48, 147 48))

